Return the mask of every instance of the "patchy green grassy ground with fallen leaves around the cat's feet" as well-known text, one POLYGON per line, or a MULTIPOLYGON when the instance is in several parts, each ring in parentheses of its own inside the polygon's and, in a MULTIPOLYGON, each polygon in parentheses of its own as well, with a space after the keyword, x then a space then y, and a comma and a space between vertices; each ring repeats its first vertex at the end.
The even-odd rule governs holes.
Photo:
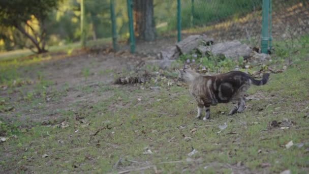
POLYGON ((117 57, 2 63, 0 172, 307 173, 309 52, 297 50, 252 86, 245 112, 228 117, 220 104, 210 121, 195 119, 186 87, 107 82, 117 57))

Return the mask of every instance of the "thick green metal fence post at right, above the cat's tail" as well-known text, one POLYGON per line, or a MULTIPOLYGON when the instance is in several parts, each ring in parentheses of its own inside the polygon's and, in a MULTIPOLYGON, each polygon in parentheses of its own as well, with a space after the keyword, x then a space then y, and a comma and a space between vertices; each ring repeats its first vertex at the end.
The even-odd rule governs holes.
POLYGON ((269 0, 263 0, 262 7, 262 39, 261 50, 262 53, 268 52, 268 14, 269 14, 269 0))

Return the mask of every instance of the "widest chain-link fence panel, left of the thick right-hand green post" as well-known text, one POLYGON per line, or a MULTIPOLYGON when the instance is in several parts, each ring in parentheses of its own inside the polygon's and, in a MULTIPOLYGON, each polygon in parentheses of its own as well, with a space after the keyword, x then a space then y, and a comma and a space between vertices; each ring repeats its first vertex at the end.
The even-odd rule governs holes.
POLYGON ((187 0, 183 2, 182 33, 203 33, 217 42, 233 39, 258 40, 261 33, 261 9, 260 0, 187 0))

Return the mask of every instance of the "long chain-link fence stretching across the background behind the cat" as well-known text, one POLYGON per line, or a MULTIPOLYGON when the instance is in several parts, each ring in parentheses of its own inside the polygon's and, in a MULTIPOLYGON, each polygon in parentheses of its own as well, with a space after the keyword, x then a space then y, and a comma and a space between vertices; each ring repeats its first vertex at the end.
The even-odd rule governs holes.
MULTIPOLYGON (((282 40, 309 33, 307 0, 67 0, 46 22, 47 45, 79 43, 82 1, 87 46, 111 44, 114 39, 113 47, 117 50, 135 47, 132 51, 158 53, 175 44, 178 37, 183 39, 193 34, 208 35, 215 42, 237 39, 260 46, 263 2, 271 4, 268 7, 272 22, 268 28, 270 38, 282 40), (133 40, 130 40, 130 11, 133 40)), ((34 18, 29 23, 36 22, 34 18)), ((14 28, 4 31, 8 35, 2 40, 4 47, 16 49, 18 43, 28 43, 27 39, 16 39, 20 34, 14 28)))

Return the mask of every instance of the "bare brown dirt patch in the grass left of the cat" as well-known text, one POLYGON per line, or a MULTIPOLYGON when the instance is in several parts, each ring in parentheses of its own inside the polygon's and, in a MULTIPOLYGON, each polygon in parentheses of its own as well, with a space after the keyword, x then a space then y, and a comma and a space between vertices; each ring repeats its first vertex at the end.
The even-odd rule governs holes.
MULTIPOLYGON (((39 103, 38 106, 29 106, 30 108, 16 106, 10 112, 0 113, 0 116, 8 122, 12 122, 13 118, 22 123, 25 123, 26 120, 35 123, 61 118, 61 114, 56 113, 56 110, 74 110, 112 97, 112 92, 100 92, 99 88, 113 83, 114 74, 123 70, 133 70, 135 66, 145 59, 149 59, 149 57, 133 55, 128 51, 108 54, 88 53, 41 62, 39 66, 32 66, 31 69, 21 68, 22 78, 31 78, 35 81, 37 73, 41 72, 44 80, 54 82, 53 85, 48 87, 46 105, 39 103), (83 74, 84 70, 88 71, 87 77, 83 74), (89 88, 91 91, 84 92, 83 88, 89 88), (59 93, 65 91, 65 89, 67 92, 63 96, 55 97, 54 92, 52 92, 55 89, 59 93), (50 95, 49 91, 51 92, 50 95), (16 113, 22 114, 17 118, 16 113)), ((14 102, 26 104, 27 101, 23 100, 24 95, 33 92, 37 83, 34 82, 33 84, 15 88, 13 94, 9 94, 7 90, 1 91, 0 97, 8 98, 10 104, 14 102)), ((34 98, 36 97, 34 96, 34 98)))

